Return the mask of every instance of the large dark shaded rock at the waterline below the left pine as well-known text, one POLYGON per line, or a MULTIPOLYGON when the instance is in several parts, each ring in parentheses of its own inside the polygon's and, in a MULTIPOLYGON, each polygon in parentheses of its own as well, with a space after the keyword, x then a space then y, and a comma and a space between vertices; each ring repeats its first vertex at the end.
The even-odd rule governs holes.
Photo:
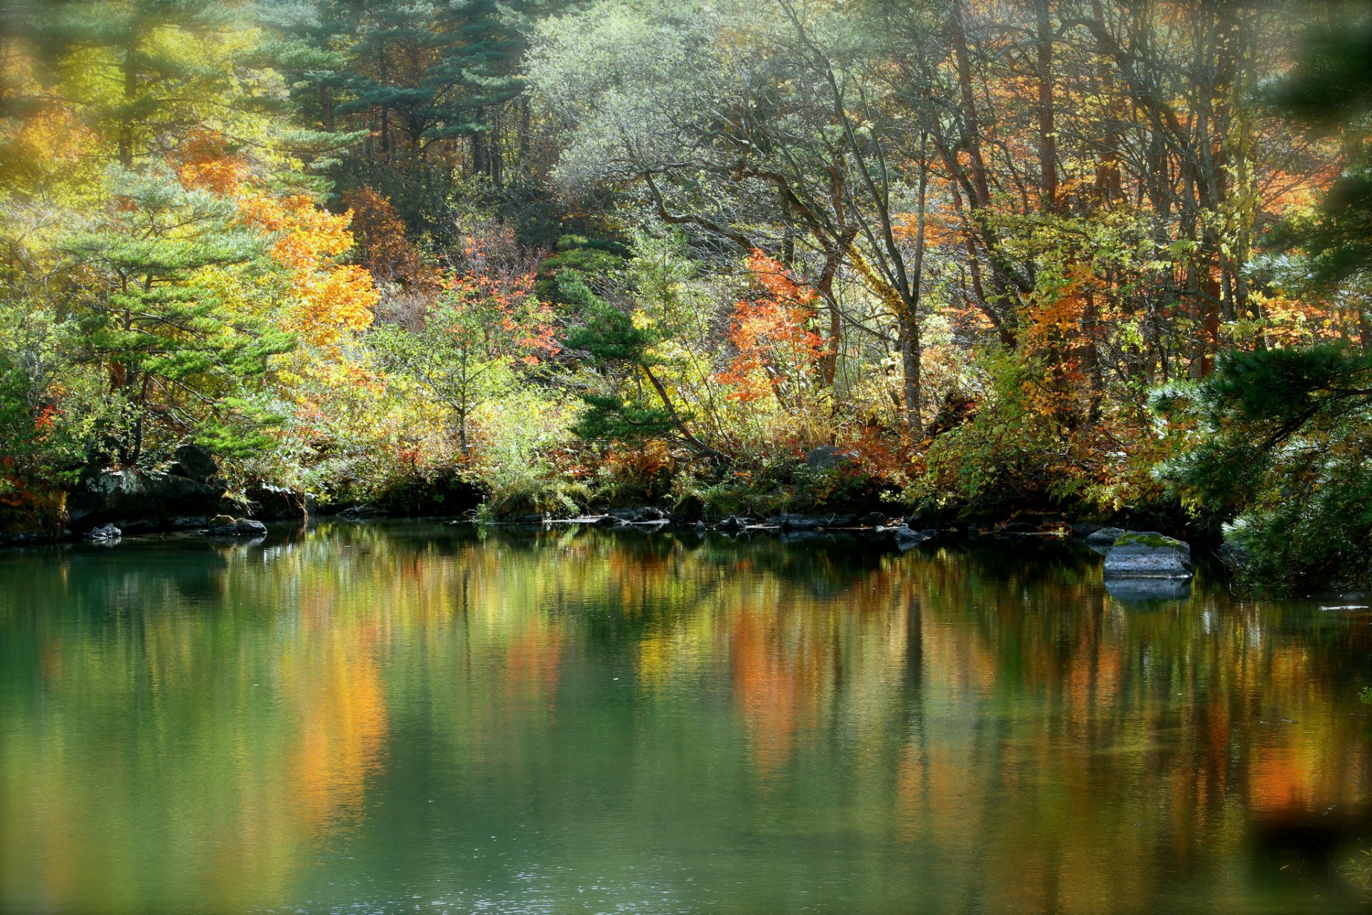
POLYGON ((203 524, 220 512, 224 488, 152 471, 100 471, 67 497, 71 521, 115 524, 121 531, 155 531, 203 524))

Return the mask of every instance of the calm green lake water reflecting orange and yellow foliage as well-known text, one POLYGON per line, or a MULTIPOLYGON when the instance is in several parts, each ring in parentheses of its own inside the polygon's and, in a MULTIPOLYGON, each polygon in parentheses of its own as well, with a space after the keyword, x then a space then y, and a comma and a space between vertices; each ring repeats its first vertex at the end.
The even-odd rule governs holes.
POLYGON ((0 910, 1351 911, 1369 620, 1070 545, 0 551, 0 910))

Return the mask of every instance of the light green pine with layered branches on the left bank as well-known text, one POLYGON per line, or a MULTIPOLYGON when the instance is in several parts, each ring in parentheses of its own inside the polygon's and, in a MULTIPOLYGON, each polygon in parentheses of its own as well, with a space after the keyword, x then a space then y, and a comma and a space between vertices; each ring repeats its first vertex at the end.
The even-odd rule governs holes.
POLYGON ((263 239, 232 224, 230 202, 187 191, 165 167, 111 173, 108 211, 62 248, 93 273, 82 302, 91 354, 123 409, 118 458, 150 432, 195 436, 226 453, 263 444, 255 384, 292 348, 261 317, 230 307, 215 270, 270 270, 263 239))

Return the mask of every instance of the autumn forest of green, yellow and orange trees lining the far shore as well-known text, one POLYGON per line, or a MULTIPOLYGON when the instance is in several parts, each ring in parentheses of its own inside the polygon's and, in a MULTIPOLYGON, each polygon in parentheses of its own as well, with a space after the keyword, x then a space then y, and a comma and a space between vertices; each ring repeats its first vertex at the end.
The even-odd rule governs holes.
POLYGON ((0 534, 110 469, 1372 580, 1372 4, 4 0, 0 534))

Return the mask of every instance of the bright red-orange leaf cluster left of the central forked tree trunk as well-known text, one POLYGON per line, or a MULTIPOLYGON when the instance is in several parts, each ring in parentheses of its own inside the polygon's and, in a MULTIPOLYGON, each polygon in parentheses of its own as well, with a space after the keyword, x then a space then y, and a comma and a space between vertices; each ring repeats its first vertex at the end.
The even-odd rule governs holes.
POLYGON ((729 369, 716 375, 733 387, 734 401, 756 401, 774 394, 785 403, 804 384, 825 353, 823 337, 809 329, 815 291, 797 285, 785 265, 753 251, 748 270, 763 295, 740 299, 734 306, 729 340, 735 357, 729 369))

